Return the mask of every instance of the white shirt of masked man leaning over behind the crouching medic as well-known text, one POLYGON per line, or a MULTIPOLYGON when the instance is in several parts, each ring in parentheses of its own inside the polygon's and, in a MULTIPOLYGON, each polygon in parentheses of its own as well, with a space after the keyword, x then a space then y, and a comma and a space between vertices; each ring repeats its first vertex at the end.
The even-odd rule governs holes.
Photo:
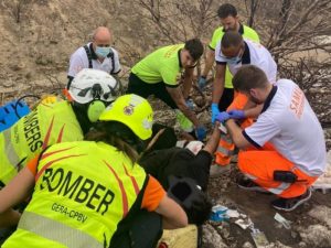
MULTIPOLYGON (((245 51, 242 61, 238 64, 228 64, 228 69, 232 75, 235 75, 242 65, 256 65, 265 72, 268 80, 271 84, 275 84, 277 76, 277 64, 269 51, 261 44, 250 40, 244 39, 244 42, 245 51)), ((217 43, 215 48, 215 61, 218 64, 226 64, 226 57, 221 50, 221 41, 217 43)))

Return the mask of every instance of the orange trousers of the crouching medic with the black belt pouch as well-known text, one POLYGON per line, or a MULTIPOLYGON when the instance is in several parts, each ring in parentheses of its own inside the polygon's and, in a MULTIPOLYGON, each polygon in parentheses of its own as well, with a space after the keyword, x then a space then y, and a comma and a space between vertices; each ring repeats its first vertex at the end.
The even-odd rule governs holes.
POLYGON ((291 161, 285 159, 269 143, 263 150, 252 148, 241 151, 238 154, 238 166, 255 183, 284 198, 302 195, 318 179, 306 174, 295 166, 291 161), (274 171, 276 170, 291 171, 302 182, 284 183, 274 181, 274 171))

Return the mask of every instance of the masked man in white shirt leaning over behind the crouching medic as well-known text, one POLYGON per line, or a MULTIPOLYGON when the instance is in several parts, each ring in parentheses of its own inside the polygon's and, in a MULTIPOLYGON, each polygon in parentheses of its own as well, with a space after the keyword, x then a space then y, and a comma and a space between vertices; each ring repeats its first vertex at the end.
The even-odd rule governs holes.
MULTIPOLYGON (((218 42, 215 52, 216 60, 216 74, 213 88, 213 104, 212 104, 212 122, 220 112, 217 103, 222 95, 225 78, 225 67, 228 65, 228 69, 232 75, 235 75, 242 65, 256 65, 261 68, 271 84, 276 83, 277 64, 274 61, 271 54, 263 45, 243 39, 243 36, 235 31, 226 32, 222 40, 218 42)), ((242 128, 250 126, 256 118, 263 105, 256 105, 249 103, 247 97, 241 93, 236 93, 233 103, 227 107, 227 110, 232 109, 245 109, 245 118, 242 118, 242 128)), ((235 112, 233 112, 235 115, 235 112)), ((228 137, 223 136, 220 140, 218 149, 215 153, 216 166, 211 168, 211 174, 217 175, 222 172, 222 168, 217 165, 227 165, 231 162, 231 155, 234 152, 234 144, 228 137)))

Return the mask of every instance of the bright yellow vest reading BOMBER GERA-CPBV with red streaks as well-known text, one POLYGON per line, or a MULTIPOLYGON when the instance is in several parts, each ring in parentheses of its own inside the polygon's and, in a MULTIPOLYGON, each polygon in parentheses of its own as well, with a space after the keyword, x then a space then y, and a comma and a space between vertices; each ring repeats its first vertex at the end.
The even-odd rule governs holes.
POLYGON ((24 213, 34 214, 33 218, 28 216, 28 224, 56 229, 55 238, 52 231, 24 224, 25 234, 13 237, 12 242, 23 242, 29 233, 35 233, 45 247, 52 240, 67 247, 108 247, 146 179, 141 166, 109 144, 93 141, 53 144, 39 161, 33 197, 24 213), (65 236, 60 239, 61 235, 65 236), (85 245, 73 246, 83 244, 81 239, 85 239, 85 245))

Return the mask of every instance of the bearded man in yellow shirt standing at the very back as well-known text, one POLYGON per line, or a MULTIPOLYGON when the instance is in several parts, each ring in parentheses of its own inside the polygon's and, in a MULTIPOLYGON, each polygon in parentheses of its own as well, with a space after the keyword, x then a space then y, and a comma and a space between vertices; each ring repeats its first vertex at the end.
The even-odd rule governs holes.
MULTIPOLYGON (((217 17, 220 19, 221 26, 218 26, 212 36, 211 43, 206 50, 205 65, 199 77, 199 87, 202 89, 206 84, 206 77, 215 62, 215 50, 217 43, 222 40, 223 35, 227 31, 236 31, 244 39, 248 39, 256 43, 259 43, 259 37, 256 31, 239 21, 239 17, 236 8, 231 3, 224 3, 220 6, 217 10, 217 17)), ((232 74, 228 71, 228 66, 226 66, 225 78, 224 78, 224 88, 220 94, 218 101, 214 103, 214 106, 218 107, 221 111, 226 110, 226 108, 231 105, 234 99, 234 90, 232 85, 232 74)))

